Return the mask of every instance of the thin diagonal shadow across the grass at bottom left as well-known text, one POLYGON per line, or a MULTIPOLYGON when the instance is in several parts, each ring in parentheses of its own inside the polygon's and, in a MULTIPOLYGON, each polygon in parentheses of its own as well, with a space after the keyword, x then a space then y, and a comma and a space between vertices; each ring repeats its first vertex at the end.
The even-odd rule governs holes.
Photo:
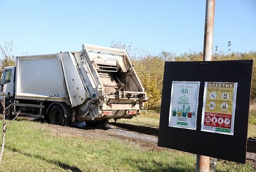
POLYGON ((21 152, 18 149, 15 149, 15 148, 8 148, 7 147, 6 149, 9 149, 9 150, 11 150, 13 152, 18 152, 19 154, 24 154, 25 156, 29 156, 29 157, 32 157, 32 158, 40 159, 40 160, 46 161, 46 162, 54 164, 54 165, 58 165, 59 167, 65 169, 65 170, 71 170, 72 172, 83 172, 82 170, 80 170, 77 167, 70 166, 68 164, 64 164, 64 163, 59 162, 59 161, 48 160, 48 159, 45 159, 43 156, 40 156, 40 155, 32 155, 32 154, 24 153, 24 152, 21 152))

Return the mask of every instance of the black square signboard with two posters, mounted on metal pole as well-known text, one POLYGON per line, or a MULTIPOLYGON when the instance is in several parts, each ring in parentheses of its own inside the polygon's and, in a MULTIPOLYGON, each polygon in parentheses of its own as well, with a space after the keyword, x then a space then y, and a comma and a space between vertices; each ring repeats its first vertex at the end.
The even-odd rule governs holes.
MULTIPOLYGON (((165 62, 158 146, 245 163, 252 66, 253 60, 165 62), (169 126, 171 91, 172 84, 175 83, 173 81, 200 82, 198 107, 197 112, 195 112, 196 129, 194 130, 169 126), (235 108, 234 123, 232 123, 233 133, 229 129, 221 130, 219 127, 214 128, 213 132, 202 131, 202 111, 203 107, 208 106, 208 104, 203 105, 204 92, 207 88, 205 83, 236 84, 236 101, 235 106, 233 106, 235 108), (221 133, 222 131, 224 133, 221 133)), ((212 96, 215 95, 212 93, 212 96)), ((227 94, 224 93, 222 98, 227 99, 227 94)), ((215 105, 217 106, 218 102, 211 103, 209 107, 214 108, 215 105)), ((224 102, 221 107, 225 110, 227 104, 224 102)), ((180 110, 182 111, 182 109, 180 110)), ((206 113, 205 110, 203 112, 206 113)), ((181 114, 183 115, 183 112, 181 114)), ((176 112, 173 112, 172 115, 175 116, 176 112)), ((186 114, 184 117, 186 117, 186 114)), ((187 117, 191 117, 191 113, 187 117)), ((227 119, 225 122, 228 124, 230 120, 227 119)), ((221 123, 224 120, 218 122, 221 123)), ((179 122, 177 124, 185 123, 179 122)), ((205 125, 208 124, 210 125, 206 122, 205 125)), ((221 126, 224 127, 224 125, 221 126)), ((229 127, 228 125, 225 126, 229 127)))

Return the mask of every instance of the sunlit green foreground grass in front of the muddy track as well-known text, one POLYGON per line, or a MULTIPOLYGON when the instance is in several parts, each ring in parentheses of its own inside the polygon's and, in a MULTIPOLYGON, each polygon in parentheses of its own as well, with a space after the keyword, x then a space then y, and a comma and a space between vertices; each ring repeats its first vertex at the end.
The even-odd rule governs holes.
MULTIPOLYGON (((110 138, 60 137, 40 126, 36 122, 14 121, 8 127, 0 171, 195 171, 193 154, 149 151, 133 142, 110 138)), ((252 163, 223 161, 217 167, 218 171, 230 172, 256 170, 252 163)))

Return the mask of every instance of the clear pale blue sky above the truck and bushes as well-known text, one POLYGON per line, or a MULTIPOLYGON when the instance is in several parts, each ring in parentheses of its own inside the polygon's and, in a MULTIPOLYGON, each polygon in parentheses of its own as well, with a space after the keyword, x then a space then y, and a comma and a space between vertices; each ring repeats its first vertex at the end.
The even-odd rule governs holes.
MULTIPOLYGON (((151 54, 203 50, 205 0, 0 0, 0 45, 13 54, 80 51, 112 41, 151 54)), ((256 51, 256 0, 216 0, 213 46, 256 51)))

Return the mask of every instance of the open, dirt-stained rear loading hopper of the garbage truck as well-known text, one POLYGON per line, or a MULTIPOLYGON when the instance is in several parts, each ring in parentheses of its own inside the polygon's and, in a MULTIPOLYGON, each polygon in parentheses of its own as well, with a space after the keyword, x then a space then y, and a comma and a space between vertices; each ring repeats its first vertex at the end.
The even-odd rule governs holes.
POLYGON ((93 84, 85 82, 90 98, 77 108, 86 114, 80 121, 139 115, 148 98, 125 50, 83 44, 80 58, 75 57, 88 70, 84 78, 94 78, 93 84))

